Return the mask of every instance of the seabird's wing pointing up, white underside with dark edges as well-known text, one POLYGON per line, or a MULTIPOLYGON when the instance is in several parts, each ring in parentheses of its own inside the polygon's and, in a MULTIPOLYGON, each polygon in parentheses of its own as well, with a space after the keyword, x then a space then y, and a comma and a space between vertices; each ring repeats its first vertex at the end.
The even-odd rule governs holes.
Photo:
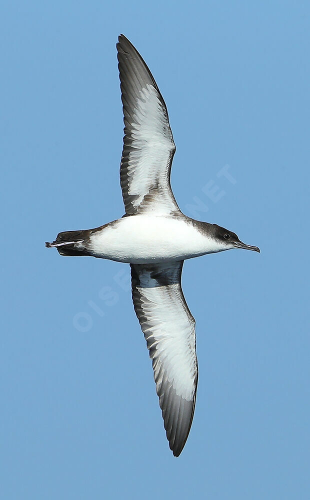
POLYGON ((175 144, 166 105, 130 41, 121 34, 116 47, 125 125, 120 185, 126 214, 179 210, 170 186, 175 144))

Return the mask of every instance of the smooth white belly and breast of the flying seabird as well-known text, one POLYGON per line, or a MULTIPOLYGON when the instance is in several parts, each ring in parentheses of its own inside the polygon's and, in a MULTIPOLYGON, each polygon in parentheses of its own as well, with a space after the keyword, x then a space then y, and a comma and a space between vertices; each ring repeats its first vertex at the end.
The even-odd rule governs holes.
POLYGON ((96 256, 129 263, 184 260, 224 249, 183 219, 155 215, 118 219, 93 233, 89 247, 96 256))

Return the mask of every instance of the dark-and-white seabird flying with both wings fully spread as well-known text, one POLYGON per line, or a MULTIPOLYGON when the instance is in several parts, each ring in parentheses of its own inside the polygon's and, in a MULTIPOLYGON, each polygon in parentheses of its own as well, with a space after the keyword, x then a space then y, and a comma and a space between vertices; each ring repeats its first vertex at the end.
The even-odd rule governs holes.
POLYGON ((130 41, 121 34, 116 47, 125 125, 120 162, 125 214, 94 229, 59 232, 45 245, 60 255, 130 264, 133 306, 152 359, 169 446, 178 456, 191 426, 198 378, 195 320, 181 288, 183 262, 231 248, 259 248, 180 211, 170 186, 175 144, 165 102, 130 41))

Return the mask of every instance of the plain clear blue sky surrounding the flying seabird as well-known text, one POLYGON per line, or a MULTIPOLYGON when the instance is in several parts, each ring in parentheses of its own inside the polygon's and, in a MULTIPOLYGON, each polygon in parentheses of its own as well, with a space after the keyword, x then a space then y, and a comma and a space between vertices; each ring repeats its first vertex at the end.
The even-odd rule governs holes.
POLYGON ((2 3, 5 500, 310 497, 309 16, 283 0, 2 3), (180 208, 261 249, 184 265, 199 382, 179 458, 129 266, 44 247, 123 214, 120 32, 166 101, 180 208))

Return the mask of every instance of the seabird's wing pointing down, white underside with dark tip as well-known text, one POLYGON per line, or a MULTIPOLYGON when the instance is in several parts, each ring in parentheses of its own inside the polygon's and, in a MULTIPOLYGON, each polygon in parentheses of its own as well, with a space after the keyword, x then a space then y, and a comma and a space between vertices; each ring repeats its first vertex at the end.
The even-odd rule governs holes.
POLYGON ((181 289, 183 262, 130 264, 132 300, 149 356, 170 449, 178 456, 191 426, 198 378, 195 320, 181 289))

